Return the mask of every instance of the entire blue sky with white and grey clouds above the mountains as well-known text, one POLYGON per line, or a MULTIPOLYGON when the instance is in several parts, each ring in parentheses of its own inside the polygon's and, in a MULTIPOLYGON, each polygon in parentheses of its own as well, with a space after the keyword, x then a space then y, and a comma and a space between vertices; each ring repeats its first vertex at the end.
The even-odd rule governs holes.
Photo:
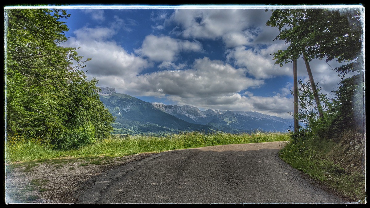
MULTIPOLYGON (((87 62, 89 78, 151 103, 192 105, 201 110, 258 111, 290 118, 292 63, 274 64, 285 49, 266 26, 265 9, 66 9, 70 30, 64 43, 87 62)), ((313 60, 312 73, 324 93, 339 81, 341 64, 313 60), (330 66, 329 66, 330 65, 330 66)), ((298 76, 308 80, 303 60, 298 76)))

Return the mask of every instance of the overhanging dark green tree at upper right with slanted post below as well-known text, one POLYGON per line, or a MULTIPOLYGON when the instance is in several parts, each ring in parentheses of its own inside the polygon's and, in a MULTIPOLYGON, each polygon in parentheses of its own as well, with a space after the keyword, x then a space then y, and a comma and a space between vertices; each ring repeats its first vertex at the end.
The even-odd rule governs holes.
POLYGON ((303 55, 317 108, 320 117, 323 117, 309 62, 313 58, 326 58, 326 61, 336 59, 339 63, 352 61, 334 70, 343 76, 351 71, 360 72, 363 38, 361 11, 277 9, 272 10, 266 25, 278 28, 280 33, 275 40, 290 43, 286 50, 278 50, 272 54, 275 64, 282 66, 303 55))

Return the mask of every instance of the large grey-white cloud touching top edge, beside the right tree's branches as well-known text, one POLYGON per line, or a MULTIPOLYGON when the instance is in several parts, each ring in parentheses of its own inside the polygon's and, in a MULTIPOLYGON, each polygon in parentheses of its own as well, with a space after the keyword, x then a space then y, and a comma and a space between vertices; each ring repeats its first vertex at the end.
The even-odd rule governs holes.
POLYGON ((185 38, 221 38, 226 47, 231 48, 252 44, 267 27, 264 25, 268 19, 269 14, 259 9, 186 9, 175 10, 166 24, 176 24, 173 34, 185 38))

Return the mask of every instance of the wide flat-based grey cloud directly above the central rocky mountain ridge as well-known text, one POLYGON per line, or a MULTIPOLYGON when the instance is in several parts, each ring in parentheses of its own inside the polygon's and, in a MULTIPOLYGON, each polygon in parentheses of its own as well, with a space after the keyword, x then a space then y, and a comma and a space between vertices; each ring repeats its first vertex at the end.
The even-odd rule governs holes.
POLYGON ((194 61, 191 69, 158 71, 137 76, 125 85, 133 94, 165 97, 179 105, 218 110, 258 111, 289 118, 292 99, 275 95, 260 97, 240 91, 259 87, 263 80, 245 76, 246 70, 234 68, 220 60, 208 57, 194 61))

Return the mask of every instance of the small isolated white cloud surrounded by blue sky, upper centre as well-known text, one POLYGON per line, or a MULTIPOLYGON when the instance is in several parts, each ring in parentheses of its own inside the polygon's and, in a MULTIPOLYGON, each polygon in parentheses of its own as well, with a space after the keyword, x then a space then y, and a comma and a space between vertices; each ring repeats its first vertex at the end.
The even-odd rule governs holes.
POLYGON ((152 61, 174 61, 182 51, 202 51, 198 41, 179 40, 169 36, 148 35, 136 53, 152 61))

